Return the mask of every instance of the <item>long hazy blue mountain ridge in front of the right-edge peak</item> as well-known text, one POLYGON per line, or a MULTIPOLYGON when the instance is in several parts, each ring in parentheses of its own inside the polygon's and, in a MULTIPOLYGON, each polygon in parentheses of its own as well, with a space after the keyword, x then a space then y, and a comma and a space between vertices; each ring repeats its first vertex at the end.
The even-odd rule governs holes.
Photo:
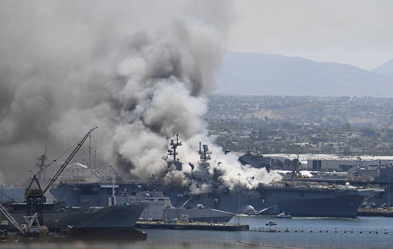
POLYGON ((301 57, 228 52, 216 94, 393 97, 393 77, 301 57))

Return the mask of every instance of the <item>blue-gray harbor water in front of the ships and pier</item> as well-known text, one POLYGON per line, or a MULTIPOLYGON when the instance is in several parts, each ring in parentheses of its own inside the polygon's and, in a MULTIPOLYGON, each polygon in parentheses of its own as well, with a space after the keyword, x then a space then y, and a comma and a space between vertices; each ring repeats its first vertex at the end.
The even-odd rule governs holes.
MULTIPOLYGON (((72 240, 58 248, 133 248, 133 249, 233 249, 233 248, 303 248, 303 249, 387 249, 392 248, 393 218, 359 216, 348 218, 278 219, 275 216, 234 217, 233 223, 249 224, 249 231, 201 231, 177 229, 139 229, 147 240, 97 243, 72 240), (269 220, 277 225, 267 226, 269 220), (276 232, 264 232, 275 229, 276 232), (244 243, 241 243, 244 242, 244 243), (248 243, 248 244, 247 244, 248 243)), ((7 248, 10 245, 7 245, 7 248)), ((29 248, 53 248, 53 244, 29 248)), ((12 245, 12 248, 26 248, 12 245)))

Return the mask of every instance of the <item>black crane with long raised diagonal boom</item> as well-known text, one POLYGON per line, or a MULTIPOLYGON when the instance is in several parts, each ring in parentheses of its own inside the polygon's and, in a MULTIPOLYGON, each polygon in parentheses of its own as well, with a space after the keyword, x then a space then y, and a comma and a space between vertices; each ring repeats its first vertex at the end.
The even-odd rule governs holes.
POLYGON ((52 177, 52 179, 50 180, 50 182, 48 183, 46 188, 44 188, 44 190, 41 189, 40 184, 38 183, 37 177, 35 175, 33 176, 33 179, 31 179, 29 187, 25 191, 26 205, 27 205, 26 212, 27 212, 28 216, 37 212, 37 219, 38 219, 39 223, 42 224, 43 208, 44 208, 44 202, 46 200, 46 198, 44 196, 45 192, 48 191, 48 189, 53 185, 53 183, 55 183, 55 181, 57 180, 59 175, 66 168, 68 163, 70 163, 71 159, 75 156, 75 154, 78 152, 78 150, 82 147, 83 143, 90 136, 92 131, 94 131, 97 128, 98 128, 98 126, 90 129, 90 131, 88 133, 86 133, 86 135, 83 136, 83 138, 80 140, 78 145, 75 147, 75 149, 72 151, 72 153, 68 156, 68 158, 64 161, 62 166, 59 168, 59 170, 56 172, 56 174, 52 177), (38 185, 38 189, 30 189, 31 184, 33 183, 34 180, 36 181, 36 183, 38 185))

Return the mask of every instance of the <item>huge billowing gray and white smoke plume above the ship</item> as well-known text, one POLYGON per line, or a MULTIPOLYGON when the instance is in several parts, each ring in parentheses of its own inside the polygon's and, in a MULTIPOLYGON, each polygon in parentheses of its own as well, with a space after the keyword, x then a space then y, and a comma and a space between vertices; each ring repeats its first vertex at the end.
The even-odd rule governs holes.
MULTIPOLYGON (((95 126, 103 167, 142 180, 165 173, 176 133, 184 160, 197 161, 231 18, 228 1, 3 1, 0 181, 28 177, 44 148, 55 158, 95 126)), ((244 169, 226 161, 231 183, 244 169)))

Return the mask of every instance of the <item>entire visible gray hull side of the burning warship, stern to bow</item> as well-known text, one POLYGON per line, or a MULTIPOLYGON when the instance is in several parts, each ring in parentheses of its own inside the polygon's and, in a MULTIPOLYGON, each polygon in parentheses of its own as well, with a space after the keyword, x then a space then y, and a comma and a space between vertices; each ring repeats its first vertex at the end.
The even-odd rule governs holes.
MULTIPOLYGON (((137 183, 118 183, 116 191, 121 192, 127 188, 132 193, 144 187, 145 185, 137 183)), ((242 212, 242 207, 251 205, 255 211, 263 211, 261 214, 285 211, 295 216, 318 217, 356 217, 365 198, 358 190, 278 186, 242 189, 240 195, 237 190, 226 190, 192 196, 186 194, 187 190, 176 187, 163 188, 162 192, 170 197, 173 207, 190 208, 202 204, 205 208, 237 213, 242 212)), ((100 188, 99 184, 92 183, 63 184, 52 189, 51 193, 58 198, 66 197, 67 205, 77 205, 84 199, 89 199, 91 205, 107 205, 102 200, 106 200, 110 192, 100 188), (95 192, 91 193, 86 189, 94 189, 95 192), (73 190, 73 194, 68 194, 70 190, 73 190)))

